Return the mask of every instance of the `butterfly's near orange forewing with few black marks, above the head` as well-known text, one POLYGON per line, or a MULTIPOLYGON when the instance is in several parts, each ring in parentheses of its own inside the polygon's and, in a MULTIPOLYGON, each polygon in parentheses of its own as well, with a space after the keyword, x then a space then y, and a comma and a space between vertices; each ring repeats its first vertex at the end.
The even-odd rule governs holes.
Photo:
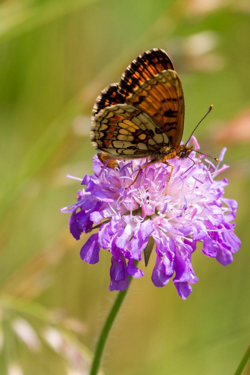
POLYGON ((172 70, 158 73, 142 83, 126 101, 150 115, 169 138, 180 144, 184 126, 184 95, 180 77, 172 70))

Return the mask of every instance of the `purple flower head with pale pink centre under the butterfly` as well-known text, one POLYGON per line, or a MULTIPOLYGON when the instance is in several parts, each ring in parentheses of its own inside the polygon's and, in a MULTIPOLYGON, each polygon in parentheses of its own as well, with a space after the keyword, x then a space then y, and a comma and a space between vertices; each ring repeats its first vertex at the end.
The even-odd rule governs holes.
POLYGON ((170 167, 163 163, 142 169, 137 181, 127 188, 147 159, 118 161, 120 169, 113 170, 105 168, 97 156, 93 158, 94 173, 82 180, 86 188, 78 192, 75 204, 61 211, 72 213, 70 233, 76 240, 81 233, 99 229, 88 238, 80 254, 82 260, 94 264, 99 261, 100 248, 110 251, 109 290, 127 288, 128 275, 144 275, 135 260, 142 259, 142 252, 145 259, 146 253, 150 256, 154 244, 154 285, 163 287, 174 276, 182 299, 189 296, 191 285, 198 281, 191 263, 197 242, 203 243, 203 254, 216 258, 223 266, 233 261, 241 245, 234 233, 237 202, 223 197, 228 180, 216 179, 228 168, 219 168, 225 150, 216 167, 204 156, 196 157, 195 151, 190 154, 195 161, 192 168, 189 159, 171 159, 174 170, 168 195, 165 192, 170 167))

